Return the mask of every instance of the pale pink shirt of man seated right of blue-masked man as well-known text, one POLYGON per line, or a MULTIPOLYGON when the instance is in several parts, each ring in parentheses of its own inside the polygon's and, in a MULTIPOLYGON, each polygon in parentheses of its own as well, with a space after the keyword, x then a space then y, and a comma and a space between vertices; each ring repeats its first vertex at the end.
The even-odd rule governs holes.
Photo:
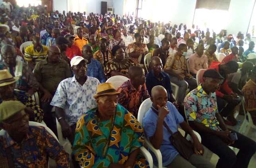
POLYGON ((208 59, 206 55, 199 57, 197 53, 192 54, 188 59, 188 69, 193 74, 196 74, 200 69, 208 69, 208 59))

